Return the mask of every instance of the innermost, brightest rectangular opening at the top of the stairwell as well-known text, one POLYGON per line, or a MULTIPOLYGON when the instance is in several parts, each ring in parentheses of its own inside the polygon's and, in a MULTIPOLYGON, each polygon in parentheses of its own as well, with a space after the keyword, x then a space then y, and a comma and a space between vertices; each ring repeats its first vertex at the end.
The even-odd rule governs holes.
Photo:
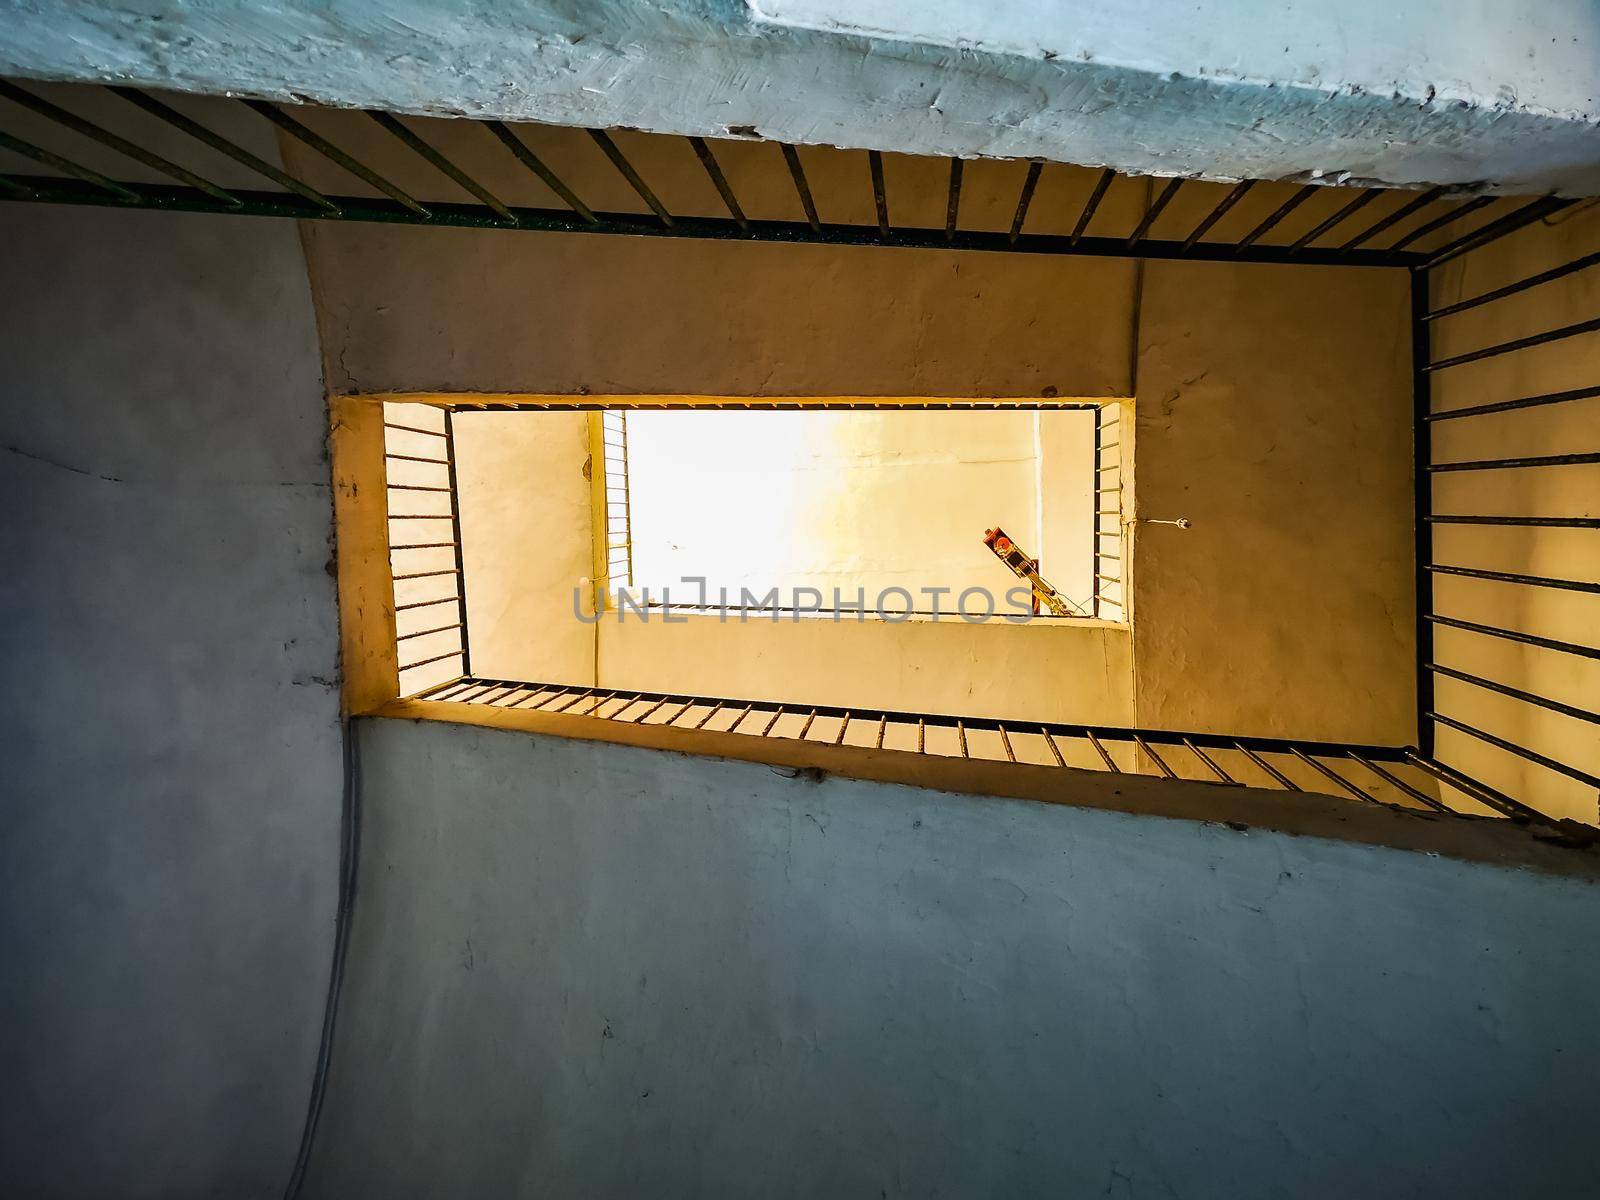
POLYGON ((1098 600, 1118 581, 1098 589, 1096 573, 1117 557, 1122 488, 1098 493, 1094 440, 1101 413, 1115 410, 606 411, 608 608, 774 621, 1110 618, 1098 600), (1043 587, 994 554, 982 541, 990 528, 1014 539, 1043 587))

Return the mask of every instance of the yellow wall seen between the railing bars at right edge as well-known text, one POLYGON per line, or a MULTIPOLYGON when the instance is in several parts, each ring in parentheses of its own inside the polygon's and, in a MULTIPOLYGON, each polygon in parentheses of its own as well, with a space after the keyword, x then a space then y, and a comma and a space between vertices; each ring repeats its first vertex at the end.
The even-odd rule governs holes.
MULTIPOLYGON (((1435 272, 1432 306, 1442 307, 1562 266, 1600 250, 1600 210, 1534 224, 1435 272)), ((1589 269, 1435 322, 1434 358, 1592 318, 1600 312, 1600 269, 1589 269)), ((1600 382, 1600 334, 1518 350, 1434 374, 1437 411, 1498 403, 1600 382)), ((1434 424, 1438 462, 1600 450, 1600 398, 1494 413, 1434 424)), ((1438 474, 1440 514, 1526 517, 1600 515, 1600 467, 1438 474)), ((1600 533, 1594 530, 1435 530, 1435 560, 1518 574, 1600 579, 1600 533)), ((1437 611, 1466 621, 1523 630, 1579 645, 1600 645, 1600 595, 1502 582, 1438 578, 1437 611)), ((1478 634, 1438 629, 1435 659, 1496 683, 1594 712, 1600 704, 1600 661, 1523 646, 1478 634)), ((1437 709, 1480 730, 1600 774, 1600 731, 1590 723, 1440 678, 1437 709)), ((1438 755, 1555 816, 1597 819, 1595 792, 1581 782, 1482 741, 1442 728, 1438 755)))

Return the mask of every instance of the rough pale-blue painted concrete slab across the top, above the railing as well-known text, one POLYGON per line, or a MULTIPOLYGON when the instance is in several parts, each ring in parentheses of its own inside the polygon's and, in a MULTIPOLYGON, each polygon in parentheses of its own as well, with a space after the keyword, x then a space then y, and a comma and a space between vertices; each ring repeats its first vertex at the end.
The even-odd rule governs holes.
POLYGON ((1600 190, 1592 0, 0 3, 0 74, 1218 179, 1600 190))

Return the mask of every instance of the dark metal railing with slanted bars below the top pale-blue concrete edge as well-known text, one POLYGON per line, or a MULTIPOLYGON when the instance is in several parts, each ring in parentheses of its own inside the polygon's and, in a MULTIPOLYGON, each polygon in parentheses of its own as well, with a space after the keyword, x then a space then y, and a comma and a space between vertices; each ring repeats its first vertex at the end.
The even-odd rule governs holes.
MULTIPOLYGON (((74 86, 75 94, 93 90, 88 85, 74 86)), ((1158 187, 1152 184, 1142 211, 1131 218, 1131 229, 1117 229, 1107 226, 1123 224, 1126 218, 1107 218, 1102 213, 1102 203, 1110 186, 1125 178, 1106 168, 1096 176, 1082 206, 1075 210, 1075 218, 1070 221, 1070 234, 1029 234, 1026 227, 1030 213, 1035 211, 1034 200, 1038 184, 1043 171, 1051 166, 1043 162, 1030 162, 1018 194, 1010 229, 1003 232, 979 230, 963 229, 960 224, 962 181, 966 165, 960 158, 952 158, 947 160, 949 184, 944 203, 944 226, 906 226, 893 221, 896 208, 885 174, 883 155, 878 150, 859 152, 806 147, 806 154, 856 155, 864 158, 864 170, 859 178, 864 186, 870 187, 875 221, 872 224, 840 224, 824 222, 819 218, 816 195, 800 150, 794 146, 778 142, 774 147, 789 173, 805 219, 771 219, 752 216, 747 211, 747 203, 736 195, 728 174, 717 158, 715 149, 706 139, 635 134, 653 138, 659 142, 682 144, 683 163, 686 166, 698 163, 698 170, 704 171, 726 211, 726 216, 717 218, 688 216, 674 213, 662 203, 658 190, 645 181, 638 166, 624 154, 610 133, 589 130, 587 133, 594 146, 648 210, 643 214, 614 213, 597 211, 587 205, 550 163, 530 149, 526 141, 512 126, 498 120, 458 118, 454 125, 459 125, 462 130, 472 128, 478 131, 477 139, 482 141, 485 149, 498 146, 498 152, 506 155, 507 165, 515 162, 517 171, 526 171, 528 178, 550 189, 565 205, 563 208, 525 208, 501 200, 478 178, 466 171, 456 158, 445 155, 437 146, 416 133, 406 120, 394 114, 349 114, 334 109, 317 109, 314 106, 282 106, 258 99, 229 101, 248 109, 254 120, 270 123, 282 138, 299 142, 309 152, 338 166, 350 179, 379 194, 379 197, 363 197, 328 194, 312 187, 304 179, 251 154, 230 138, 224 138, 206 123, 186 115, 171 102, 178 98, 162 99, 147 91, 123 86, 107 88, 106 91, 126 102, 130 117, 138 112, 142 114, 141 120, 154 118, 171 130, 178 130, 192 139, 195 146, 203 146, 226 155, 253 176, 272 184, 272 187, 261 190, 218 186, 195 170, 141 146, 133 138, 91 122, 38 94, 37 85, 24 86, 0 80, 0 101, 3 101, 0 102, 0 150, 27 158, 35 166, 48 171, 48 174, 0 173, 0 198, 24 203, 104 205, 114 208, 278 216, 304 221, 371 221, 467 229, 624 234, 630 237, 813 242, 826 245, 922 246, 1035 254, 1389 267, 1413 266, 1426 261, 1427 254, 1413 246, 1472 214, 1483 213, 1490 219, 1469 234, 1461 235, 1446 250, 1458 250, 1461 245, 1472 242, 1472 238, 1493 237, 1506 222, 1520 219, 1523 211, 1520 202, 1515 198, 1474 197, 1462 190, 1434 187, 1411 195, 1411 198, 1394 206, 1376 221, 1358 219, 1360 213, 1386 194, 1384 189, 1307 182, 1301 184, 1256 224, 1230 238, 1222 238, 1218 237, 1218 230, 1224 218, 1258 182, 1245 181, 1229 187, 1214 203, 1203 208, 1203 216, 1198 221, 1174 227, 1174 219, 1170 216, 1170 213, 1176 211, 1173 202, 1186 189, 1214 192, 1219 186, 1194 179, 1163 179, 1158 187), (32 114, 32 117, 43 118, 54 130, 70 136, 62 139, 64 144, 59 149, 18 136, 5 128, 10 123, 5 120, 6 109, 32 114), (306 122, 310 114, 318 114, 318 120, 323 120, 326 115, 328 120, 334 122, 352 118, 373 122, 405 147, 408 154, 424 162, 430 168, 437 186, 462 189, 474 197, 474 203, 437 200, 432 195, 413 195, 411 190, 406 190, 389 176, 355 158, 323 133, 310 128, 306 122), (82 144, 82 141, 112 150, 120 158, 138 163, 155 174, 165 176, 171 182, 152 184, 126 178, 115 179, 85 166, 74 158, 74 154, 80 154, 74 146, 82 144), (1283 229, 1299 229, 1306 221, 1306 214, 1299 210, 1314 197, 1330 194, 1347 195, 1349 198, 1338 203, 1334 211, 1328 213, 1323 219, 1310 222, 1302 232, 1286 237, 1286 240, 1269 240, 1269 235, 1274 232, 1283 235, 1283 229), (1486 210, 1496 205, 1499 208, 1494 211, 1507 206, 1512 211, 1504 216, 1493 216, 1486 210), (1424 214, 1427 216, 1426 221, 1422 219, 1424 214), (1418 224, 1408 232, 1400 234, 1410 222, 1418 224), (1165 237, 1157 237, 1157 234, 1165 234, 1165 237), (1378 248, 1378 243, 1384 238, 1392 240, 1378 248)), ((1554 211, 1554 208, 1571 202, 1550 197, 1533 203, 1544 206, 1544 211, 1554 211)), ((1067 216, 1072 214, 1069 213, 1067 216)), ((1458 253, 1464 251, 1458 250, 1458 253)))

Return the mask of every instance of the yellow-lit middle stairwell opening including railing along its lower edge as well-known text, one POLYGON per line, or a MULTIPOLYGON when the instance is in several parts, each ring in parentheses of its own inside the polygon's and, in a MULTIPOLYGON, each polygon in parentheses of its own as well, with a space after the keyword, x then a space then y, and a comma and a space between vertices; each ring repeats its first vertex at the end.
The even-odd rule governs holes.
MULTIPOLYGON (((886 750, 923 771, 963 760, 1486 806, 1406 747, 1062 720, 1051 678, 1130 635, 1125 402, 806 403, 344 402, 381 430, 400 707, 718 754, 728 738, 782 742, 790 762, 886 750), (1069 616, 1006 619, 971 597, 963 614, 963 592, 1022 584, 986 525, 1038 547, 1069 616), (672 598, 685 579, 691 595, 672 598), (894 589, 946 606, 878 603, 894 589), (926 674, 886 678, 909 658, 926 674)), ((1115 696, 1099 707, 1115 714, 1115 696)))

